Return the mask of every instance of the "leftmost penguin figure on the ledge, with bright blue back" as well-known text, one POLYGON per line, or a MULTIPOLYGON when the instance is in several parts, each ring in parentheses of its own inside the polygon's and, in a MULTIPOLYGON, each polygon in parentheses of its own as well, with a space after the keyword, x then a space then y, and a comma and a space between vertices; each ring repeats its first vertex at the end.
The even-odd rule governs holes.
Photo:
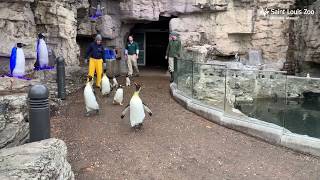
POLYGON ((25 75, 26 60, 22 47, 23 43, 17 43, 17 47, 12 48, 10 56, 10 74, 14 77, 22 77, 25 75))

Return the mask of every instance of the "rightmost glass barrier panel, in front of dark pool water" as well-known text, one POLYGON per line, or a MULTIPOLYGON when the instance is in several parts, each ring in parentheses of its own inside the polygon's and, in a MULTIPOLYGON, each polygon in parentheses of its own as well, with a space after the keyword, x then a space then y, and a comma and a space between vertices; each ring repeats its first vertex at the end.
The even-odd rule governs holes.
POLYGON ((320 138, 320 79, 288 76, 284 128, 320 138))

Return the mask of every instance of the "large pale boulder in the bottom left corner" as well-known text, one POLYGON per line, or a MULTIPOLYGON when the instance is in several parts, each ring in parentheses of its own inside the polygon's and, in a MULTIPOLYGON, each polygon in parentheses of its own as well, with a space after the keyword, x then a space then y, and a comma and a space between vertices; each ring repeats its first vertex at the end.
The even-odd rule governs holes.
POLYGON ((1 179, 74 179, 67 146, 58 139, 2 149, 0 162, 1 179))

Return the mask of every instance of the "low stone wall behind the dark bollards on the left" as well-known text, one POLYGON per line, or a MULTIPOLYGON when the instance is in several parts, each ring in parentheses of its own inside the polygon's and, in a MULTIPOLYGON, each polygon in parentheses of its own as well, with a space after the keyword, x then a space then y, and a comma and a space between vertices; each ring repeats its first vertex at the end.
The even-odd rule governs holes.
MULTIPOLYGON (((71 94, 83 85, 86 71, 80 68, 66 71, 66 93, 71 94)), ((59 113, 63 101, 57 98, 56 71, 34 71, 33 80, 0 77, 0 149, 24 144, 29 137, 27 93, 35 84, 49 89, 50 115, 59 113)))

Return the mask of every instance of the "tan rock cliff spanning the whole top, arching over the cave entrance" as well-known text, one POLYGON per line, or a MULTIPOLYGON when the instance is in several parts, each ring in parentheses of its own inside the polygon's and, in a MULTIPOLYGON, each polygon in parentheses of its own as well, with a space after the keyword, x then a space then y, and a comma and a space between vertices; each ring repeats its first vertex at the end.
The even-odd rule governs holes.
MULTIPOLYGON (((261 12, 266 7, 288 9, 295 3, 299 4, 295 0, 104 0, 104 16, 92 21, 89 15, 97 0, 3 0, 0 56, 8 58, 14 44, 22 41, 29 45, 26 57, 34 60, 36 35, 44 32, 56 55, 63 56, 67 65, 78 65, 77 36, 92 37, 100 32, 107 46, 123 47, 124 36, 134 24, 177 16, 171 20, 170 29, 181 35, 185 47, 208 44, 217 50, 208 56, 239 53, 244 59, 248 59, 248 51, 259 50, 264 63, 280 69, 288 51, 289 21, 266 18, 261 12)), ((312 5, 317 6, 319 1, 312 5)), ((304 16, 296 23, 295 27, 302 29, 297 32, 297 58, 319 62, 319 41, 314 39, 320 32, 318 19, 318 15, 304 16)))

